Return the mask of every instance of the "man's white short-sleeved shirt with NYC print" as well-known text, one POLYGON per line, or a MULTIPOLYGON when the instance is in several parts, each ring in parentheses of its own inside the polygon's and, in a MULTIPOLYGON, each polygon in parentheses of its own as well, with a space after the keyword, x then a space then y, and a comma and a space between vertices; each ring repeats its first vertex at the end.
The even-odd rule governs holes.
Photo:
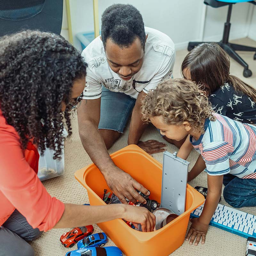
POLYGON ((145 27, 148 38, 145 44, 143 65, 129 81, 120 78, 108 65, 100 36, 95 38, 82 52, 86 69, 84 98, 94 100, 101 97, 102 85, 113 92, 123 92, 137 99, 139 92, 156 88, 163 79, 172 75, 175 61, 174 43, 164 33, 145 27))

